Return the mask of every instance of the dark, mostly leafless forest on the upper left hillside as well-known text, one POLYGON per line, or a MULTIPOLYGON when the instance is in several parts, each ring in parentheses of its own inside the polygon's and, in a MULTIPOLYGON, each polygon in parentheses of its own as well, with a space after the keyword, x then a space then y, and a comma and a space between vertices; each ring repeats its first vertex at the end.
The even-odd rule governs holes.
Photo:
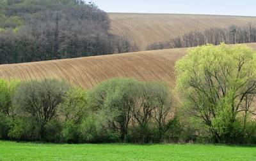
POLYGON ((108 14, 82 0, 0 0, 0 64, 124 53, 108 14))

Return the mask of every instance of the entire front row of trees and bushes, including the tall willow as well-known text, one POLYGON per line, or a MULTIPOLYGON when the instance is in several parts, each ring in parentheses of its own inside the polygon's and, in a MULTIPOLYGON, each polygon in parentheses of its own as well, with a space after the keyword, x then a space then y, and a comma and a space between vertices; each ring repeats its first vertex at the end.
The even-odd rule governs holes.
POLYGON ((0 80, 0 139, 52 143, 256 144, 256 57, 245 45, 199 46, 161 82, 0 80), (174 99, 175 94, 175 99, 174 99))

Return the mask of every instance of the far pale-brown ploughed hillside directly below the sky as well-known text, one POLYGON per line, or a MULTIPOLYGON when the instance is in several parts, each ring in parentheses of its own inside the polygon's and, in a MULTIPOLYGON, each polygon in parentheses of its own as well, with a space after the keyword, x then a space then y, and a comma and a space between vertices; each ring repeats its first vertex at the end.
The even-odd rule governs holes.
POLYGON ((111 32, 127 37, 139 50, 146 50, 152 43, 168 41, 189 31, 256 24, 256 17, 216 15, 109 13, 109 17, 111 32))

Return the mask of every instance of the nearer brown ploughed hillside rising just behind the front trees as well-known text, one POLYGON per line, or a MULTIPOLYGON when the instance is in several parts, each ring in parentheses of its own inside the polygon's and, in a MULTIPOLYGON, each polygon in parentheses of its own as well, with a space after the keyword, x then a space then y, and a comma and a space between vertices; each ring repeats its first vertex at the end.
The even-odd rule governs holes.
MULTIPOLYGON (((249 44, 256 49, 256 43, 249 44)), ((109 78, 136 78, 175 84, 174 65, 187 48, 122 53, 77 59, 50 60, 0 66, 0 78, 20 80, 58 78, 92 88, 109 78)))

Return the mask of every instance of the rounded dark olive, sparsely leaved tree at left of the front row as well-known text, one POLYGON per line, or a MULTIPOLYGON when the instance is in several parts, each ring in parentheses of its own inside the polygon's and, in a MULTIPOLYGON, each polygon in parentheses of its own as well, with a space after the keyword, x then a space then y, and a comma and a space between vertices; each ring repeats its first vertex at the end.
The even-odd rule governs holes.
POLYGON ((58 80, 23 82, 17 87, 13 103, 19 115, 29 116, 40 124, 40 134, 45 139, 45 125, 56 116, 69 88, 68 83, 58 80))

